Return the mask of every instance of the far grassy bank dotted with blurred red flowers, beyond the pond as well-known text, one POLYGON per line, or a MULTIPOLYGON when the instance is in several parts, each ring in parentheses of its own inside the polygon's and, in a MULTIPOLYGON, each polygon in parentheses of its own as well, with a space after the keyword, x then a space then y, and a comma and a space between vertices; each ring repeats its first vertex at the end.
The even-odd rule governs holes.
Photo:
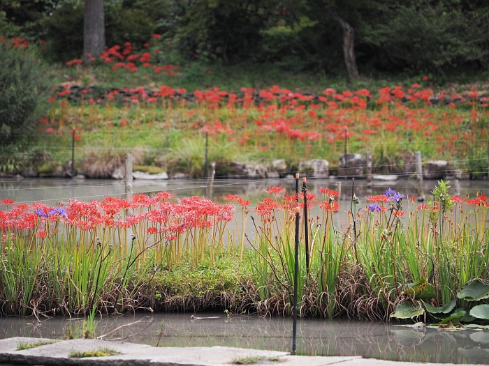
POLYGON ((59 174, 75 146, 75 168, 93 178, 110 177, 127 152, 137 165, 201 177, 206 144, 217 176, 236 174, 235 160, 268 166, 284 158, 285 170, 297 171, 300 162, 321 158, 334 168, 345 149, 371 151, 374 173, 412 173, 414 151, 472 176, 488 171, 488 103, 476 89, 435 94, 413 84, 316 94, 279 86, 237 93, 65 86, 53 91, 49 116, 25 140, 29 146, 3 147, 1 171, 59 174))

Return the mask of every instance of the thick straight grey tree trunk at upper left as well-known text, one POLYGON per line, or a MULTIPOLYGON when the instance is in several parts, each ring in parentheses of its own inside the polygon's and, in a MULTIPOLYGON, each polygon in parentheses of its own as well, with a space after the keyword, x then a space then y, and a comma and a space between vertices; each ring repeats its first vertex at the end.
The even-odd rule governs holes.
POLYGON ((85 60, 99 57, 105 48, 103 0, 85 0, 83 21, 83 56, 85 60))

